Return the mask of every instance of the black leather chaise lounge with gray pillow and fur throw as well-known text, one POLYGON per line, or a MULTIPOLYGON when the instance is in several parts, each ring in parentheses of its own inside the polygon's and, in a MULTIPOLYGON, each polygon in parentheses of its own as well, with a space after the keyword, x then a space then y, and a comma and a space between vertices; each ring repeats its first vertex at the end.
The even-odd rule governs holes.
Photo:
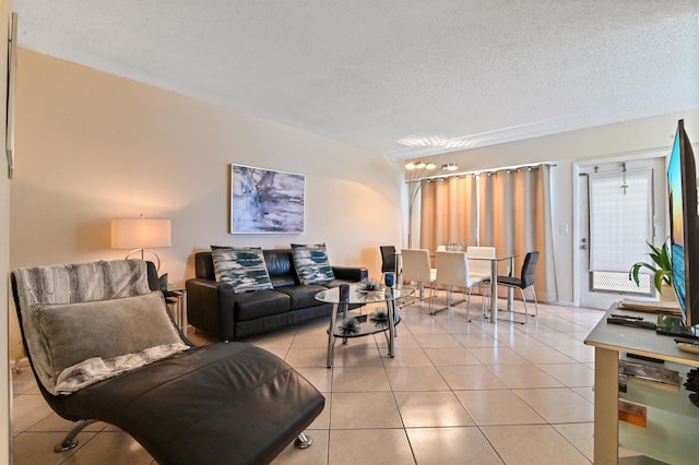
POLYGON ((38 388, 58 415, 80 421, 57 452, 73 448, 94 421, 121 428, 159 464, 265 464, 295 439, 309 445, 304 429, 323 409, 322 394, 261 348, 194 347, 153 290, 150 265, 121 260, 12 273, 38 388))

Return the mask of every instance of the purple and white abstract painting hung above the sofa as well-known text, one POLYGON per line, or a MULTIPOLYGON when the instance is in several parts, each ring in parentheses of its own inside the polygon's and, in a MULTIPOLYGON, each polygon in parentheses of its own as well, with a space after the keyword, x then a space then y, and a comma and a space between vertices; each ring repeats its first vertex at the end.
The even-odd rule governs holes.
POLYGON ((230 164, 230 234, 304 233, 306 176, 230 164))

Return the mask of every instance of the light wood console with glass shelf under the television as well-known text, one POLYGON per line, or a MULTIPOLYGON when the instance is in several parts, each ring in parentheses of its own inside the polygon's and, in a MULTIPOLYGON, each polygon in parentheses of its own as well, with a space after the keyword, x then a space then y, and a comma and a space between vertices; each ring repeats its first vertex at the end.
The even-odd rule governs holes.
POLYGON ((696 464, 699 408, 689 401, 690 393, 682 386, 678 392, 670 392, 631 379, 627 392, 619 393, 617 381, 619 358, 626 354, 665 360, 660 366, 678 371, 683 383, 686 373, 692 367, 699 367, 699 355, 677 349, 672 336, 660 335, 652 330, 608 324, 606 317, 612 312, 643 317, 648 321, 655 319, 654 314, 613 306, 585 339, 585 344, 595 348, 594 463, 618 463, 620 445, 666 463, 696 464), (618 421, 619 398, 648 408, 644 428, 618 421))

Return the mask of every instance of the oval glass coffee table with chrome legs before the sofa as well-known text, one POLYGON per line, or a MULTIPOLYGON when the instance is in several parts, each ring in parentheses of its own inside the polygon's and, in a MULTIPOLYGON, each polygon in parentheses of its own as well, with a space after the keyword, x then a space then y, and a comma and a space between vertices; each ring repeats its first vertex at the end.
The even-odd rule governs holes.
POLYGON ((389 357, 393 357, 393 338, 395 325, 400 322, 395 302, 415 293, 412 287, 393 289, 387 287, 382 293, 363 291, 357 285, 350 285, 347 296, 340 296, 340 287, 322 290, 316 294, 316 300, 333 305, 328 330, 328 368, 334 362, 335 339, 342 338, 346 344, 348 338, 386 333, 389 345, 389 357), (378 309, 371 313, 354 314, 350 312, 351 305, 386 303, 386 310, 378 309), (337 315, 340 314, 340 318, 337 315))

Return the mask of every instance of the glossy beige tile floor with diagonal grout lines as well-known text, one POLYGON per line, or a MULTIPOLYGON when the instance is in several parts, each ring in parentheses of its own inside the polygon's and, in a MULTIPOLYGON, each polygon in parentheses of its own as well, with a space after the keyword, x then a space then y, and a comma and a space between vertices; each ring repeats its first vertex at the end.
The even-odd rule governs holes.
MULTIPOLYGON (((474 317, 478 298, 471 305, 474 317)), ((591 464, 594 353, 582 341, 604 312, 538 310, 522 325, 479 315, 469 323, 463 306, 434 317, 408 306, 394 358, 378 334, 339 343, 333 369, 324 319, 248 339, 327 400, 307 431, 313 445, 289 446, 274 464, 591 464)), ((191 329, 189 336, 210 343, 191 329)), ((82 432, 74 451, 54 453, 71 424, 49 409, 28 368, 13 375, 13 395, 16 465, 154 463, 103 422, 82 432)))

